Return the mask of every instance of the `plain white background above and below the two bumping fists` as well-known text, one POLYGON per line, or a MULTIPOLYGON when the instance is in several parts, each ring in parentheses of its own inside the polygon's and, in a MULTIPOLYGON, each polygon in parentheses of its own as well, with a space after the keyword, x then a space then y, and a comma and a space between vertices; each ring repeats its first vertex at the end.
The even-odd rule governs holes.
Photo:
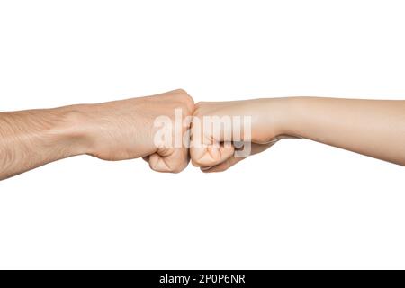
MULTIPOLYGON (((0 110, 405 99, 401 1, 2 1, 0 110)), ((350 140, 350 139, 347 139, 350 140)), ((0 183, 0 268, 405 268, 405 170, 288 139, 222 174, 73 157, 0 183)))

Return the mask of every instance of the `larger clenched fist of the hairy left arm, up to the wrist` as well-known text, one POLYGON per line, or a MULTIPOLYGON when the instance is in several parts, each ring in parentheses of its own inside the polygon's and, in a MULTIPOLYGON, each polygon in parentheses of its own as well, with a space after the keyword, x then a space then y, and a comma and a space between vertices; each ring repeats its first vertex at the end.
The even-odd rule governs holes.
POLYGON ((183 136, 193 98, 184 90, 83 105, 82 110, 87 154, 112 161, 143 157, 158 172, 177 173, 188 165, 188 139, 183 136))

